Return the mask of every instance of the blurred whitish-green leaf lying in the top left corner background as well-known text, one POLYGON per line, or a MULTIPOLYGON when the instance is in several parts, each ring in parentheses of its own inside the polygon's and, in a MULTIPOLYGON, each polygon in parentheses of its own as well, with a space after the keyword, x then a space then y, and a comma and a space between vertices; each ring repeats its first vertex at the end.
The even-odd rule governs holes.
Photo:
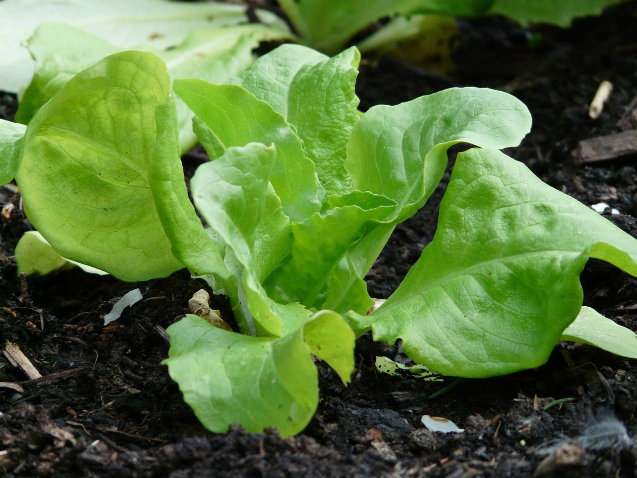
MULTIPOLYGON (((264 10, 255 13, 276 30, 287 30, 276 15, 264 10)), ((248 24, 249 19, 245 6, 217 2, 3 0, 0 1, 0 52, 3 52, 0 90, 22 91, 31 80, 33 62, 24 45, 43 22, 75 25, 120 49, 160 51, 182 43, 192 31, 248 24)))

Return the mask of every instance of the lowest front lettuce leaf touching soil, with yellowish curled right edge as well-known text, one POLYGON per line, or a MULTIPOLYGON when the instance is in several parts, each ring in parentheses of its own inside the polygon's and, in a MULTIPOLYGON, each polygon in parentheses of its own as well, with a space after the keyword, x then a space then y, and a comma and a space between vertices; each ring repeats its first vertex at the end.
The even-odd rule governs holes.
POLYGON ((168 333, 164 363, 201 423, 216 433, 240 423, 247 431, 274 426, 283 437, 294 435, 318 405, 311 354, 333 366, 345 383, 354 370, 354 333, 330 311, 281 338, 221 330, 196 315, 171 325, 168 333))

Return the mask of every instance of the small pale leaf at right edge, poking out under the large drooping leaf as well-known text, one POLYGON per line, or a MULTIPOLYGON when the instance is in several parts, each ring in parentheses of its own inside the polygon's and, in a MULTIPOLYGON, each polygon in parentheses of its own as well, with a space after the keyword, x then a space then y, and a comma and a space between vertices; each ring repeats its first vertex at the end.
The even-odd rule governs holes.
POLYGON ((615 355, 637 359, 637 334, 590 307, 582 307, 560 340, 594 345, 615 355))

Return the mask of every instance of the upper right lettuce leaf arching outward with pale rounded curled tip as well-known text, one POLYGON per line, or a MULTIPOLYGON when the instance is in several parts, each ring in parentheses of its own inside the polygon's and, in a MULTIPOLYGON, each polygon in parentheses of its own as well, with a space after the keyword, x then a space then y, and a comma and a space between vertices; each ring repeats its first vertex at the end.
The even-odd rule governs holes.
POLYGON ((440 182, 447 149, 517 146, 531 129, 529 110, 506 93, 450 88, 396 106, 374 106, 354 127, 345 169, 354 189, 394 199, 396 222, 411 217, 440 182))

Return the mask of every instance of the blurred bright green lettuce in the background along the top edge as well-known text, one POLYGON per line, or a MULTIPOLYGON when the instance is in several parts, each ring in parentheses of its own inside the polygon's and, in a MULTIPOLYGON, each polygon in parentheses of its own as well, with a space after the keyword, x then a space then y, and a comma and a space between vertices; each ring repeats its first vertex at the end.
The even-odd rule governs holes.
POLYGON ((431 34, 425 15, 473 17, 496 13, 522 25, 545 22, 568 26, 573 18, 601 13, 626 0, 279 0, 299 40, 328 54, 340 52, 356 34, 383 18, 390 21, 357 43, 377 50, 411 36, 431 34))

